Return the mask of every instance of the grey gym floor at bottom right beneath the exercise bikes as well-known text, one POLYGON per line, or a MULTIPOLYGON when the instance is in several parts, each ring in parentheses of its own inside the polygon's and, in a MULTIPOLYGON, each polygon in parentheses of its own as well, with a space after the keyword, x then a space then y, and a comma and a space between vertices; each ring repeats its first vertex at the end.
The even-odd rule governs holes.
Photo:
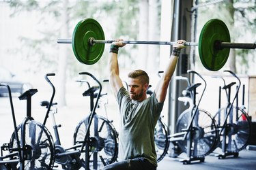
POLYGON ((199 161, 192 162, 190 165, 183 165, 179 158, 170 158, 165 156, 160 163, 158 163, 158 170, 245 170, 256 169, 256 150, 255 146, 248 147, 248 150, 242 150, 239 152, 238 158, 233 156, 227 156, 225 159, 218 159, 214 154, 205 156, 205 162, 199 163, 199 161))

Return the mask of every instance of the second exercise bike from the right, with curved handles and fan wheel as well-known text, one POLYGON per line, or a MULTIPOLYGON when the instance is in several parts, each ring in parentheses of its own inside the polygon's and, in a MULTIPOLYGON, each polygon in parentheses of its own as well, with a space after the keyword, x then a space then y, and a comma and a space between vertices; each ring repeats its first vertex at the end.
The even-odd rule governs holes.
MULTIPOLYGON (((162 146, 168 146, 169 142, 171 142, 170 144, 173 144, 174 147, 172 148, 173 150, 182 150, 181 152, 186 153, 185 158, 180 159, 180 162, 183 164, 190 164, 195 160, 204 162, 205 156, 214 150, 214 146, 218 141, 218 131, 214 118, 212 118, 210 113, 199 109, 199 103, 203 97, 206 82, 196 71, 188 71, 188 73, 195 74, 202 80, 204 86, 201 97, 199 97, 197 102, 197 88, 201 86, 201 83, 191 85, 186 78, 180 78, 180 80, 188 82, 188 87, 183 92, 184 97, 179 97, 178 100, 189 103, 189 107, 177 119, 176 132, 173 135, 168 135, 168 140, 165 138, 162 140, 162 146)), ((161 120, 158 121, 161 122, 161 120)), ((162 122, 162 124, 164 123, 162 122)), ((165 129, 165 126, 162 126, 162 129, 165 129)), ((162 152, 162 156, 167 153, 167 150, 162 152)), ((177 154, 181 152, 178 151, 177 154)), ((175 157, 178 157, 178 155, 175 157)))

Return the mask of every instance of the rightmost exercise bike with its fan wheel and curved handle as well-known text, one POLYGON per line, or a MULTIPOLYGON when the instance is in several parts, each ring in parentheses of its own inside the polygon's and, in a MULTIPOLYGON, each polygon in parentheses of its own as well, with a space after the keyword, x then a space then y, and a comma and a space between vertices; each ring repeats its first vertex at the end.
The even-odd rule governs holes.
MULTIPOLYGON (((216 148, 221 148, 221 153, 215 154, 219 159, 226 158, 227 156, 238 157, 240 150, 243 150, 248 145, 251 137, 251 120, 244 111, 244 107, 238 106, 238 92, 240 90, 241 81, 238 76, 232 71, 224 71, 230 73, 238 82, 236 92, 231 100, 231 87, 236 82, 230 84, 225 83, 223 79, 225 95, 227 97, 227 104, 221 107, 221 87, 219 88, 219 109, 214 118, 218 125, 218 133, 220 139, 216 148), (234 104, 236 101, 236 105, 234 104)), ((244 91, 242 97, 242 105, 244 105, 244 91)))

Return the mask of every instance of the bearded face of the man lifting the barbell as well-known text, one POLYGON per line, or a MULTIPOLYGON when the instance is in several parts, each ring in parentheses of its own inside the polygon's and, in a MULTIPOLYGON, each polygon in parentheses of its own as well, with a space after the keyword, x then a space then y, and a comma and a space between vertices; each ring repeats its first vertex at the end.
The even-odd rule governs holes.
POLYGON ((145 88, 145 85, 143 86, 141 84, 139 78, 129 78, 128 86, 130 99, 134 101, 143 101, 143 97, 145 96, 144 93, 146 92, 147 88, 145 88))

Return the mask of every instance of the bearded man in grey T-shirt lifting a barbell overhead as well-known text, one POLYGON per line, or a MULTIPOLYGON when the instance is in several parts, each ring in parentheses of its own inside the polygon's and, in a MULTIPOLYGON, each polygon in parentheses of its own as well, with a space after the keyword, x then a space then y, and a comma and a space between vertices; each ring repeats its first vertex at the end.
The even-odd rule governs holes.
POLYGON ((179 40, 173 45, 169 64, 159 80, 154 94, 147 98, 149 77, 143 70, 128 74, 129 92, 124 88, 119 77, 117 53, 125 46, 122 39, 111 44, 109 56, 109 82, 119 105, 119 162, 107 165, 109 169, 155 170, 157 167, 154 144, 154 127, 162 111, 169 82, 175 71, 180 50, 185 48, 185 41, 179 40))

